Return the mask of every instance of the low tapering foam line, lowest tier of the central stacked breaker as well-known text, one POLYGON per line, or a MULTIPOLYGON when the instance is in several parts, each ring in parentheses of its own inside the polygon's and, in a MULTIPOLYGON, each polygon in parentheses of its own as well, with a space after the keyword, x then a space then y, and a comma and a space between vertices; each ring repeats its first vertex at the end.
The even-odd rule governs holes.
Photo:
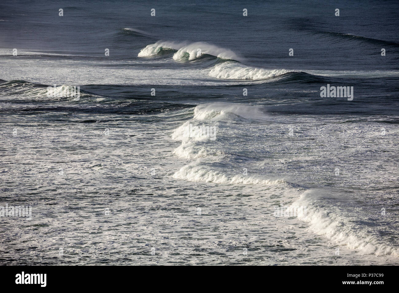
POLYGON ((271 185, 271 184, 284 183, 284 180, 282 179, 277 179, 277 180, 261 179, 251 176, 244 176, 241 174, 231 177, 225 173, 214 171, 208 169, 205 166, 198 165, 197 163, 191 163, 189 165, 182 167, 179 171, 174 173, 173 178, 185 179, 189 181, 206 181, 206 182, 221 183, 221 184, 271 185))

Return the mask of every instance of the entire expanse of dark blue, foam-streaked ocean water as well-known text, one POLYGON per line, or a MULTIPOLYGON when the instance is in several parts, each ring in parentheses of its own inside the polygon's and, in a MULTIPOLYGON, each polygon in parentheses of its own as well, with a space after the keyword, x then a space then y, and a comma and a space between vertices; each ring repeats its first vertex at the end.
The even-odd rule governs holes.
POLYGON ((398 11, 1 2, 0 264, 399 264, 398 11))

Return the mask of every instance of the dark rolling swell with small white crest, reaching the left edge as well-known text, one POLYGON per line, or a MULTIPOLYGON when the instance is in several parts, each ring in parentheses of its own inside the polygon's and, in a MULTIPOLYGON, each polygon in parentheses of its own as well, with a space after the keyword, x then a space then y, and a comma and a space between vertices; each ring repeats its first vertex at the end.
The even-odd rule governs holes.
MULTIPOLYGON (((107 92, 95 94, 87 90, 80 90, 80 97, 52 97, 49 96, 48 85, 30 83, 23 80, 0 80, 0 100, 6 104, 0 112, 21 112, 21 114, 35 114, 37 112, 67 112, 67 113, 118 113, 118 114, 156 114, 164 111, 190 108, 192 105, 173 102, 151 101, 148 98, 136 96, 129 98, 117 94, 120 86, 113 88, 109 85, 96 85, 97 90, 107 92), (115 93, 115 94, 113 94, 115 93)), ((62 92, 67 85, 60 85, 58 92, 62 92)), ((83 86, 84 87, 84 86, 83 86)), ((131 96, 131 92, 129 94, 131 96)))

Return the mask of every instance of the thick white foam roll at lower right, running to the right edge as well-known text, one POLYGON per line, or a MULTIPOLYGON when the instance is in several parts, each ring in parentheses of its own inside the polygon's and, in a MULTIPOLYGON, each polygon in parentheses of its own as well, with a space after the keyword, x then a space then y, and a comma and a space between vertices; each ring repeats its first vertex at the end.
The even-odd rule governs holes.
POLYGON ((359 228, 340 212, 332 212, 314 205, 314 190, 303 193, 292 206, 306 206, 307 213, 298 218, 309 223, 310 230, 324 235, 339 245, 356 249, 363 254, 399 256, 398 250, 377 238, 377 232, 359 228))

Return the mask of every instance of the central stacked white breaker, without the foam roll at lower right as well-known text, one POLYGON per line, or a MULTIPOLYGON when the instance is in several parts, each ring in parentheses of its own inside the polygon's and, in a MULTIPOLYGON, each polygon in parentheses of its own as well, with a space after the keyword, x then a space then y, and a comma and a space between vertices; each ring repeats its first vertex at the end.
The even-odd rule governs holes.
MULTIPOLYGON (((194 125, 194 127, 206 125, 209 128, 216 128, 218 130, 225 128, 227 130, 228 128, 235 127, 234 123, 237 121, 246 120, 245 116, 256 117, 257 115, 259 115, 258 109, 249 106, 232 106, 228 104, 196 106, 194 117, 176 128, 172 133, 173 140, 182 141, 182 144, 174 150, 174 153, 179 157, 188 159, 212 156, 212 159, 217 160, 217 157, 221 158, 223 156, 224 152, 221 149, 223 143, 218 145, 212 144, 214 142, 212 137, 204 136, 204 133, 192 132, 192 136, 188 136, 187 129, 192 127, 191 125, 194 125), (224 126, 219 122, 223 122, 224 126)), ((206 181, 221 184, 271 185, 284 183, 282 179, 255 178, 241 174, 229 175, 213 167, 216 167, 213 163, 206 164, 205 161, 198 159, 182 167, 174 173, 173 177, 189 181, 206 181)))

